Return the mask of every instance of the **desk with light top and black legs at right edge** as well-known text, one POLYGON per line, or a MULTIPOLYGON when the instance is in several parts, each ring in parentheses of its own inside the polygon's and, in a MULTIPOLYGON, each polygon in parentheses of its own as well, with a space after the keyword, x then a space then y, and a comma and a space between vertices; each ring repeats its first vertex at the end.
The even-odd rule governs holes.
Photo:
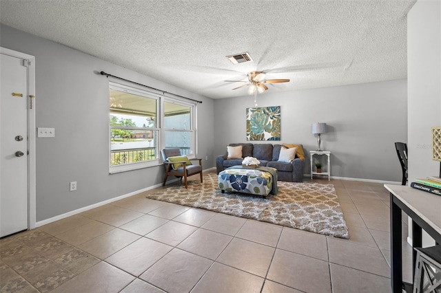
MULTIPOLYGON (((412 246, 422 246, 422 230, 436 243, 441 243, 441 196, 418 191, 410 186, 389 185, 391 193, 391 287, 393 293, 402 292, 401 211, 412 219, 412 246)), ((416 252, 413 250, 413 270, 416 252)))

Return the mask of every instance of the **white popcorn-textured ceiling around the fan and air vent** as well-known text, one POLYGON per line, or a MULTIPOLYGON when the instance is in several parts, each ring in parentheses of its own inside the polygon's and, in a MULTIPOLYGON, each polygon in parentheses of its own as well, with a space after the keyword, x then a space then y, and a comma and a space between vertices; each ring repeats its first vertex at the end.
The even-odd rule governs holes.
POLYGON ((224 80, 245 80, 256 69, 268 79, 291 79, 269 91, 407 78, 407 12, 415 2, 1 0, 0 22, 209 98, 229 98, 247 89, 232 91, 240 83, 224 80), (254 61, 225 58, 242 52, 254 61))

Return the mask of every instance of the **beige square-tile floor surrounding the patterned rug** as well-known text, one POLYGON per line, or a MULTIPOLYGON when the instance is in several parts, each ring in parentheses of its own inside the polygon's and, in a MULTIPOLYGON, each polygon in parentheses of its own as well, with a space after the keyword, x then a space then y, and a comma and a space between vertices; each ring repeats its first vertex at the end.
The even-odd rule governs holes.
POLYGON ((391 292, 389 194, 377 183, 331 184, 349 240, 141 193, 1 239, 1 292, 391 292))

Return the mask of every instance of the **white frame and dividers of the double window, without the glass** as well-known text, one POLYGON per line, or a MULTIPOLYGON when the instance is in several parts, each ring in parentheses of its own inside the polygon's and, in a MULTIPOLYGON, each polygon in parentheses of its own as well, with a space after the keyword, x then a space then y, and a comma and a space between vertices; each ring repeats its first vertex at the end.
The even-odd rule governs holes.
POLYGON ((112 115, 112 112, 110 110, 110 98, 107 98, 107 119, 108 119, 108 127, 109 127, 109 139, 108 139, 108 146, 109 146, 109 155, 108 155, 108 166, 109 166, 109 173, 121 173, 125 171, 133 171, 138 169, 145 169, 152 166, 160 166, 163 164, 163 159, 161 158, 161 150, 165 148, 165 131, 185 131, 191 133, 191 145, 190 145, 190 152, 187 154, 188 158, 195 158, 195 154, 197 153, 197 132, 196 132, 196 102, 189 102, 187 100, 181 99, 181 98, 172 98, 170 96, 165 96, 164 94, 158 94, 153 91, 147 90, 146 88, 143 88, 139 85, 132 85, 131 83, 123 83, 121 81, 114 81, 109 80, 109 94, 108 97, 110 97, 110 89, 115 89, 117 91, 125 91, 127 93, 132 93, 137 96, 143 96, 145 98, 153 98, 156 99, 156 127, 118 127, 118 126, 112 126, 110 125, 110 116, 112 115), (190 129, 165 129, 163 127, 164 124, 164 102, 170 102, 176 105, 181 105, 184 107, 190 108, 190 129), (137 130, 150 130, 150 131, 156 131, 156 141, 154 148, 156 150, 156 159, 154 160, 148 160, 143 162, 132 162, 127 164, 119 164, 111 166, 111 156, 112 156, 112 129, 137 129, 137 130))

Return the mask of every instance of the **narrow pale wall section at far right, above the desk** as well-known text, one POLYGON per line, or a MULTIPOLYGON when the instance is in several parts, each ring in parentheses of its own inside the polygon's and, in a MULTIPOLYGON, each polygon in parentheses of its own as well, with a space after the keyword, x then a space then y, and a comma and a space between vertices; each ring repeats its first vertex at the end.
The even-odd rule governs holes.
POLYGON ((439 175, 431 128, 441 126, 441 2, 417 1, 407 17, 409 182, 439 175))

